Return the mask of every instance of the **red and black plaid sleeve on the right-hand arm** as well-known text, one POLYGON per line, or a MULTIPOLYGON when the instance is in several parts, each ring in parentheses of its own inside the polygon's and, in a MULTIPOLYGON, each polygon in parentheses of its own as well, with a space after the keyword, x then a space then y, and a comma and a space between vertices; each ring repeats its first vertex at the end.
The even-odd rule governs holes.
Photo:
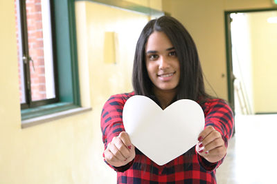
MULTIPOLYGON (((212 125, 215 130, 220 132, 225 146, 227 147, 228 141, 231 139, 233 134, 233 112, 229 105, 227 105, 227 103, 223 100, 213 99, 205 104, 204 114, 205 127, 212 125)), ((199 154, 197 154, 197 157, 199 164, 204 168, 204 170, 207 171, 215 170, 222 164, 224 160, 223 158, 217 163, 210 163, 199 154)))

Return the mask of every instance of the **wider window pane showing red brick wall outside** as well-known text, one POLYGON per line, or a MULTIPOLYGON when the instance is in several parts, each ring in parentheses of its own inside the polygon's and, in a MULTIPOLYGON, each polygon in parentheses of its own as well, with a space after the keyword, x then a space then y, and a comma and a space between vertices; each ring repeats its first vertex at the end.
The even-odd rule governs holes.
POLYGON ((49 0, 27 0, 32 101, 55 98, 49 0))

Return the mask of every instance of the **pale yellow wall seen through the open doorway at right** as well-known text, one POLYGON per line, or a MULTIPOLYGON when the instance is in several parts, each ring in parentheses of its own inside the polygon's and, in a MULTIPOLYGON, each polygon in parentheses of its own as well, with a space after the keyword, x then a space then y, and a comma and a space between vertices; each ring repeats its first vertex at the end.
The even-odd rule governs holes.
POLYGON ((277 12, 249 14, 255 112, 277 112, 277 23, 268 23, 269 17, 277 12))

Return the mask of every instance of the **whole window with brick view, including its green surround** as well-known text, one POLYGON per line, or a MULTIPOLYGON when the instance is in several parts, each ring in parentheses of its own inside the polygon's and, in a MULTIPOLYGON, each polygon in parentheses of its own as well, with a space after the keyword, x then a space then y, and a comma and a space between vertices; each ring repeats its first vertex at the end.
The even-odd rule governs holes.
POLYGON ((21 119, 80 107, 73 0, 15 0, 21 119))

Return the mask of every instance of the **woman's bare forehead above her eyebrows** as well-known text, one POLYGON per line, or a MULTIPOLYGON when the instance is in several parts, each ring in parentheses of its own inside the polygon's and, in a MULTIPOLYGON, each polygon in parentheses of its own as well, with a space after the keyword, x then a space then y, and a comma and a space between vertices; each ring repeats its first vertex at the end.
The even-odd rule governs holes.
POLYGON ((148 50, 166 50, 168 48, 172 48, 172 43, 168 36, 164 32, 154 31, 150 34, 148 38, 148 42, 145 45, 145 51, 148 50))

